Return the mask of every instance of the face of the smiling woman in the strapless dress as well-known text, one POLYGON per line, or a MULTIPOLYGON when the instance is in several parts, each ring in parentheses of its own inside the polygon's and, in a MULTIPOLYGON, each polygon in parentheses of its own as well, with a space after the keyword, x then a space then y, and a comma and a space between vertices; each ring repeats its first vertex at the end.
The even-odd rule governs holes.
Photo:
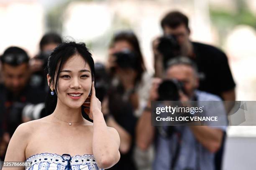
MULTIPOLYGON (((53 84, 51 77, 55 75, 47 75, 49 86, 58 96, 57 106, 79 108, 88 97, 91 87, 92 78, 94 77, 94 67, 90 68, 91 61, 85 61, 80 54, 74 54, 67 59, 65 64, 57 72, 59 77, 58 86, 53 84), (87 64, 88 63, 88 64, 87 64), (92 72, 92 73, 91 73, 92 72)), ((54 97, 54 96, 53 96, 54 97)))

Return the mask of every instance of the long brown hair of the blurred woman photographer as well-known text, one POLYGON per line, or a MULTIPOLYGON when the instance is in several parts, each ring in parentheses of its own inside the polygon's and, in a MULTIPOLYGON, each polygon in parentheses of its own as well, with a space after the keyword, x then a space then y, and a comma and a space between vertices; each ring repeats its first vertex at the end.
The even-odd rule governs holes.
POLYGON ((118 41, 127 41, 133 47, 133 52, 135 52, 136 55, 138 56, 138 64, 136 67, 136 71, 138 72, 138 75, 136 77, 135 82, 141 81, 142 74, 144 71, 146 71, 146 67, 143 62, 143 56, 141 53, 141 48, 138 42, 138 38, 136 37, 133 31, 125 30, 125 31, 120 31, 115 33, 111 44, 114 45, 115 42, 118 42, 118 41))

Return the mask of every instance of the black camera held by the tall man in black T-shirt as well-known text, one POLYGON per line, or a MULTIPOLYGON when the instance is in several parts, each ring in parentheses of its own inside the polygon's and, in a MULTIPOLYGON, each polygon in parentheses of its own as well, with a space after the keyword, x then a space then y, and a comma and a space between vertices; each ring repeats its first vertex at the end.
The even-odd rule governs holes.
POLYGON ((181 55, 181 46, 175 35, 164 35, 159 38, 157 50, 163 55, 164 69, 170 59, 181 55))

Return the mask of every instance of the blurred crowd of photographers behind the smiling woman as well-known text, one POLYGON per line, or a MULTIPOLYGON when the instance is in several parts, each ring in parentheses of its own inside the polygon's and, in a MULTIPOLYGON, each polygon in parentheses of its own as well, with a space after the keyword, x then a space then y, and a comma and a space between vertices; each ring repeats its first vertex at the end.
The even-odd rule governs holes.
MULTIPOLYGON (((110 169, 220 170, 227 126, 156 128, 151 125, 151 101, 235 100, 228 58, 216 47, 191 41, 189 19, 179 11, 159 20, 163 34, 152 42, 154 75, 145 67, 146 56, 132 30, 116 32, 107 62, 95 63, 96 96, 106 124, 120 135, 121 158, 110 169)), ((36 56, 16 46, 1 53, 0 160, 18 125, 47 116, 44 68, 62 41, 50 32, 41 38, 36 56)), ((231 107, 225 105, 225 111, 231 107)), ((82 114, 90 120, 83 109, 82 114)))

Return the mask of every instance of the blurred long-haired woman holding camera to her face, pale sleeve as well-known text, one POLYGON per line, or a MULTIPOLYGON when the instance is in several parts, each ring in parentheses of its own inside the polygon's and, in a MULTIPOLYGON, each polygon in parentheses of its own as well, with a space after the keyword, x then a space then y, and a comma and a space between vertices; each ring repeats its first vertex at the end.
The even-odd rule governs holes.
POLYGON ((123 100, 131 102, 134 115, 139 117, 148 100, 151 75, 146 71, 138 38, 132 31, 120 31, 111 44, 108 65, 112 85, 122 87, 123 100))

